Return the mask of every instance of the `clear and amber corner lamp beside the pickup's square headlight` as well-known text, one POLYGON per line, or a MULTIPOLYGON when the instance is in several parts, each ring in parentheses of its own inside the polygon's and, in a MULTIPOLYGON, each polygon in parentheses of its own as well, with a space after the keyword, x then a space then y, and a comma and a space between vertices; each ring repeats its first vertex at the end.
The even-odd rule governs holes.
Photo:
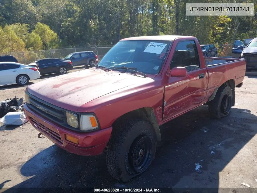
POLYGON ((96 117, 94 115, 81 115, 79 128, 82 131, 93 130, 98 127, 96 117))

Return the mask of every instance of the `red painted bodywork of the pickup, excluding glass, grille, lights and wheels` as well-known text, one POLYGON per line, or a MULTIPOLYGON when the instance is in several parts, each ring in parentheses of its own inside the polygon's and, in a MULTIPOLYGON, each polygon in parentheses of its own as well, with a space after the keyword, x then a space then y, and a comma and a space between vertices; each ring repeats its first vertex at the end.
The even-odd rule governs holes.
MULTIPOLYGON (((106 72, 91 68, 53 77, 27 87, 30 94, 50 104, 75 112, 96 114, 102 129, 81 133, 60 127, 24 106, 28 117, 33 117, 44 126, 59 132, 62 138, 65 133, 79 138, 78 145, 64 140, 65 145, 61 147, 67 151, 79 155, 98 155, 109 141, 113 122, 125 113, 151 107, 158 124, 161 125, 207 102, 214 90, 227 80, 234 80, 237 85, 245 76, 245 59, 226 59, 229 62, 206 67, 204 59, 221 60, 222 58, 203 57, 200 44, 194 37, 147 36, 126 38, 121 41, 127 40, 172 41, 168 56, 158 75, 142 78, 117 71, 106 72), (169 64, 175 47, 179 41, 185 40, 196 42, 201 68, 187 72, 186 77, 168 77, 169 64), (201 73, 205 77, 199 79, 198 75, 201 73), (165 96, 163 96, 164 93, 165 96), (162 106, 164 106, 164 113, 162 113, 162 106)), ((54 142, 53 139, 50 140, 54 142)))

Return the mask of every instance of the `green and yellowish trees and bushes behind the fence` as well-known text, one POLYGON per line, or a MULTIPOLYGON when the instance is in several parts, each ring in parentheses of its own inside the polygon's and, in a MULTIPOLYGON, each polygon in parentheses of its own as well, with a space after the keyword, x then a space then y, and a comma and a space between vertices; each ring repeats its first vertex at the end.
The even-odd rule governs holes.
MULTIPOLYGON (((186 16, 186 3, 196 2, 232 1, 1 0, 0 25, 9 26, 11 34, 6 38, 19 38, 30 50, 58 45, 109 45, 131 36, 179 34, 195 36, 201 44, 213 43, 222 47, 219 52, 224 54, 228 52, 224 51, 226 46, 219 45, 257 36, 257 16, 186 16)), ((256 0, 247 2, 255 3, 256 13, 256 0)))

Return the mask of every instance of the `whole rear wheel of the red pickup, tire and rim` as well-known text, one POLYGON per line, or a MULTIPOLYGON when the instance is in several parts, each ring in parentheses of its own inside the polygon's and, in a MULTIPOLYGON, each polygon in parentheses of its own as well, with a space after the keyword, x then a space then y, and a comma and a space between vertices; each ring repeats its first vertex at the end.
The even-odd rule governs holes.
POLYGON ((208 102, 209 112, 215 119, 228 116, 233 102, 233 94, 230 86, 221 86, 214 99, 208 102))

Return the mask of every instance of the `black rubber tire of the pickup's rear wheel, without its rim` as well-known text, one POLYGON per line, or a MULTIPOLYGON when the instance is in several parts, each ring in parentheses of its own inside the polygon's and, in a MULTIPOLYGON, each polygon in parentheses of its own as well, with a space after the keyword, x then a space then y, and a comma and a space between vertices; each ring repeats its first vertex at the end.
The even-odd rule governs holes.
POLYGON ((214 99, 208 102, 208 106, 209 106, 208 109, 211 117, 215 119, 219 119, 221 117, 228 116, 231 112, 232 101, 233 101, 233 94, 232 94, 231 87, 226 85, 221 86, 218 89, 214 99), (229 104, 229 107, 228 107, 229 110, 224 113, 221 108, 222 108, 224 97, 226 96, 230 96, 232 100, 231 100, 231 104, 229 104))

